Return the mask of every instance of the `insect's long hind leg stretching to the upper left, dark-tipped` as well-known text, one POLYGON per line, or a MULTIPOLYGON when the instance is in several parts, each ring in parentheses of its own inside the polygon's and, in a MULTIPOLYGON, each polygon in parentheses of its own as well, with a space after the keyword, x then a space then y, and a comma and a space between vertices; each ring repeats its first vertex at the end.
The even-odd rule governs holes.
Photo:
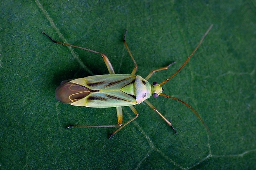
MULTIPOLYGON (((45 34, 45 32, 42 32, 43 34, 45 34)), ((83 48, 83 47, 79 47, 79 46, 74 46, 74 45, 71 45, 71 44, 66 44, 66 43, 63 43, 63 42, 59 42, 59 41, 55 41, 54 39, 52 39, 52 37, 50 37, 49 35, 45 34, 52 42, 54 43, 57 43, 57 44, 62 44, 62 45, 65 45, 65 46, 71 46, 71 47, 75 47, 75 48, 79 48, 79 49, 82 49, 82 50, 85 50, 85 51, 90 51, 92 53, 96 53, 96 54, 100 54, 102 55, 102 58, 107 66, 107 69, 109 71, 109 74, 115 74, 115 71, 114 71, 114 68, 112 66, 112 64, 110 63, 109 59, 107 58, 107 56, 103 53, 100 53, 100 52, 97 52, 97 51, 93 51, 93 50, 90 50, 88 48, 83 48)))

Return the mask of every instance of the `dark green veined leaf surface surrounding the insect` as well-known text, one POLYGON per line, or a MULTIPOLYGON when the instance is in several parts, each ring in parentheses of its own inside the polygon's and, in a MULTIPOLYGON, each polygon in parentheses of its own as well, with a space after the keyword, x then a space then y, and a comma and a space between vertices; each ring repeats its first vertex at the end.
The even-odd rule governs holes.
MULTIPOLYGON (((256 169, 256 3, 191 1, 0 2, 0 169, 256 169), (172 123, 175 135, 145 103, 140 116, 116 128, 68 124, 116 124, 115 108, 59 103, 62 80, 108 74, 102 57, 53 44, 53 38, 105 53, 116 74, 150 81, 171 76, 214 24, 199 50, 164 93, 189 103, 207 133, 182 103, 149 99, 172 123)), ((123 109, 124 122, 133 117, 123 109)))

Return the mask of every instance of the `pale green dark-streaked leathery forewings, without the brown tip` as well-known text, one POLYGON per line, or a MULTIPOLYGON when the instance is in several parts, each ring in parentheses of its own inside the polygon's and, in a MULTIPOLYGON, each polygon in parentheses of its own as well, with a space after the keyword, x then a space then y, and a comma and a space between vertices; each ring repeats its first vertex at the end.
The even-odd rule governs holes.
POLYGON ((107 74, 71 80, 71 83, 75 83, 95 91, 91 92, 83 99, 71 103, 71 105, 93 108, 110 108, 135 105, 137 104, 135 96, 122 90, 123 87, 126 87, 124 88, 126 90, 127 87, 134 90, 135 78, 135 75, 130 74, 107 74))

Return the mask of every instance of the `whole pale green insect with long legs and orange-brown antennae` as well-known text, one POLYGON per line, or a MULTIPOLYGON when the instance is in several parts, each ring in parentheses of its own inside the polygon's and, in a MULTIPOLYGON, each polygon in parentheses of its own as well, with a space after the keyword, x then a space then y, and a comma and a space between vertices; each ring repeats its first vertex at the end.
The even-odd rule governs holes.
POLYGON ((56 88, 55 92, 55 98, 62 102, 71 104, 73 106, 85 106, 85 107, 92 107, 92 108, 111 108, 116 107, 116 113, 117 113, 117 121, 118 124, 116 125, 69 125, 67 128, 70 128, 71 126, 76 127, 119 127, 116 131, 111 133, 109 136, 109 139, 119 130, 121 130, 124 126, 135 120, 139 113, 134 108, 133 105, 140 104, 142 102, 145 102, 150 108, 152 108, 156 113, 158 113, 164 121, 173 129, 173 131, 176 134, 175 129, 173 128, 173 125, 171 122, 169 122, 147 99, 150 96, 158 97, 158 96, 164 96, 167 98, 175 99, 177 101, 180 101, 181 103, 185 104, 187 107, 189 107, 195 115, 200 119, 202 124, 204 124, 205 128, 209 131, 209 128, 204 123, 203 119, 199 116, 199 114, 187 103, 184 101, 177 99, 172 96, 168 96, 166 94, 162 94, 163 88, 161 85, 167 83, 171 78, 173 78, 178 72, 187 64, 187 62, 190 60, 192 55, 197 51, 197 48, 200 46, 202 41, 204 40, 204 37, 208 32, 211 30, 213 25, 209 27, 209 29, 206 31, 204 36, 199 41, 199 44, 194 49, 192 54, 187 58, 187 60, 184 62, 184 64, 176 71, 171 77, 164 80, 162 83, 156 83, 153 82, 150 84, 147 80, 156 72, 168 69, 174 62, 171 62, 166 67, 162 67, 159 69, 152 70, 149 75, 146 78, 142 78, 139 75, 135 75, 137 71, 137 64, 133 58, 133 55, 131 54, 128 45, 126 43, 126 33, 125 32, 123 36, 123 43, 126 46, 126 49, 133 60, 133 63, 135 64, 135 67, 133 68, 133 71, 131 74, 115 74, 114 68, 112 67, 112 64, 110 63, 107 56, 103 53, 90 50, 88 48, 83 48, 79 46, 74 46, 71 44, 66 44, 63 42, 55 41, 52 39, 49 35, 45 34, 52 42, 57 44, 62 44, 66 46, 71 46, 75 48, 80 48, 85 51, 90 51, 92 53, 100 54, 107 66, 107 69, 109 71, 109 74, 107 75, 96 75, 96 76, 88 76, 84 78, 78 78, 74 80, 65 80, 62 81, 61 85, 56 88), (130 119, 128 122, 123 124, 123 112, 122 107, 128 106, 135 114, 135 117, 130 119))

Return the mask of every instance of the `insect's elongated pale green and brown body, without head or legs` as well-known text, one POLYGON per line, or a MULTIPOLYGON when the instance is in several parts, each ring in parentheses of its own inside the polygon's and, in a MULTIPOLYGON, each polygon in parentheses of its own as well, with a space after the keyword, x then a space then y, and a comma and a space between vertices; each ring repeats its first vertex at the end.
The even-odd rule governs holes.
POLYGON ((141 76, 106 74, 66 82, 56 89, 56 96, 59 101, 73 106, 92 108, 132 106, 152 96, 152 86, 141 76))

